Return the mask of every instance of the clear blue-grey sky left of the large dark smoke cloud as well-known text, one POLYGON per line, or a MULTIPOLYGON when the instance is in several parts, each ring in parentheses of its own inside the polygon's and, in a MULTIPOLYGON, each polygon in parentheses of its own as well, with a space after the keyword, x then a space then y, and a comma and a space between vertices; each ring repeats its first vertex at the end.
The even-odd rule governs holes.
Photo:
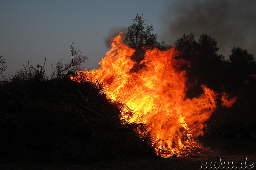
POLYGON ((1 0, 0 53, 6 61, 5 72, 13 74, 28 61, 43 64, 45 55, 46 70, 51 70, 52 63, 69 59, 71 41, 89 57, 85 67, 96 68, 108 51, 104 38, 113 26, 131 25, 137 13, 147 23, 159 25, 163 7, 150 0, 1 0))

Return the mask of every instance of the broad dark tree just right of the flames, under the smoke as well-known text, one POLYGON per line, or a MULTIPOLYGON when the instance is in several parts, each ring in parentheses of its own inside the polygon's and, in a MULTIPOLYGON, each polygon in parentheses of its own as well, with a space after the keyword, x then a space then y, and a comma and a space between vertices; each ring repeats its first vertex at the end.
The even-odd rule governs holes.
POLYGON ((211 35, 202 34, 195 41, 194 34, 183 35, 174 42, 178 50, 176 59, 189 61, 189 67, 183 69, 188 75, 187 97, 196 97, 202 93, 201 85, 207 85, 214 90, 222 87, 224 57, 217 54, 217 41, 211 35))

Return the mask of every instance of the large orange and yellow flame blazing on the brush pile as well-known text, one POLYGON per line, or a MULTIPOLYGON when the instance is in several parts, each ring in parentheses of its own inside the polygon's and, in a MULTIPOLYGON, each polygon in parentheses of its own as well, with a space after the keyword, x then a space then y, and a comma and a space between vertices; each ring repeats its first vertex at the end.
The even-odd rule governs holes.
POLYGON ((194 137, 203 135, 205 122, 216 108, 217 94, 202 85, 203 94, 186 99, 186 72, 179 70, 185 61, 174 59, 174 48, 145 49, 140 62, 144 67, 132 71, 136 62, 131 56, 135 50, 123 43, 121 34, 112 41, 98 70, 81 71, 71 78, 78 80, 86 74, 99 80, 109 99, 134 110, 134 115, 125 116, 126 121, 151 127, 151 135, 158 140, 154 147, 161 156, 186 154, 188 148, 198 148, 194 137))

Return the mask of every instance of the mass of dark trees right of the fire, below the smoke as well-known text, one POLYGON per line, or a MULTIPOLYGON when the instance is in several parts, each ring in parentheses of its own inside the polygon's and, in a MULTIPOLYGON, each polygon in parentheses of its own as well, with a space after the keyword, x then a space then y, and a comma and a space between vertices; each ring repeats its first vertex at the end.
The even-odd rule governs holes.
MULTIPOLYGON (((225 57, 218 54, 217 41, 207 34, 202 34, 198 41, 192 33, 184 34, 175 41, 175 48, 178 50, 176 59, 189 63, 185 62, 182 68, 188 76, 187 98, 198 97, 202 93, 202 84, 219 94, 228 93, 230 99, 236 98, 236 103, 230 108, 218 105, 207 122, 207 129, 204 129, 207 130, 205 136, 212 138, 217 133, 234 130, 244 117, 256 118, 256 63, 252 54, 234 47, 229 61, 225 61, 225 57)), ((220 100, 217 102, 221 103, 220 100)))

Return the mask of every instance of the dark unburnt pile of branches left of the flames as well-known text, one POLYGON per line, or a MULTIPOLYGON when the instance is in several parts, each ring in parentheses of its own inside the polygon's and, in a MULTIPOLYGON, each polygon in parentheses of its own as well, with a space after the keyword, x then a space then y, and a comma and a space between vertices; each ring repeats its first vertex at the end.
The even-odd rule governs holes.
POLYGON ((125 122, 122 107, 86 78, 13 76, 0 83, 0 160, 91 163, 154 155, 150 137, 136 133, 143 124, 125 122))

